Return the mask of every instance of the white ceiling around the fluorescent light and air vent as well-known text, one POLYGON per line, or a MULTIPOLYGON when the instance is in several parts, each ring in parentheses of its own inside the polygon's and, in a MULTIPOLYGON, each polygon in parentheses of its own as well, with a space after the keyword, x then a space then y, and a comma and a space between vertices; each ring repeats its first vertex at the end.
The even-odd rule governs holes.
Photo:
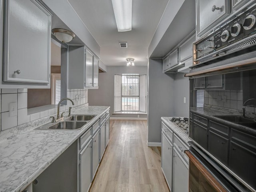
POLYGON ((107 66, 147 66, 148 46, 168 0, 133 0, 132 30, 118 32, 111 0, 68 0, 100 46, 100 59, 107 66), (128 42, 120 48, 119 42, 128 42))

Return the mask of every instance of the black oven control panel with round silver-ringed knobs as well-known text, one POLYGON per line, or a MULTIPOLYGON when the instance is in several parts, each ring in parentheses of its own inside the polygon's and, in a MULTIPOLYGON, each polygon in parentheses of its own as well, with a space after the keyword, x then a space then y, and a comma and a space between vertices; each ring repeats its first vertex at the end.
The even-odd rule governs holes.
POLYGON ((256 44, 256 5, 193 44, 194 65, 234 53, 256 44))

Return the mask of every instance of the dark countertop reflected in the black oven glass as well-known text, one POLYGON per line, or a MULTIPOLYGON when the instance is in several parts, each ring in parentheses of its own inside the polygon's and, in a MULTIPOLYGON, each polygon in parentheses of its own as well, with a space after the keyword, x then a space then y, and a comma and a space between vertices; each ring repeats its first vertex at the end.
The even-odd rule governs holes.
POLYGON ((214 120, 216 122, 219 122, 221 124, 225 124, 227 126, 232 126, 238 130, 241 130, 243 132, 247 132, 249 134, 253 134, 256 136, 256 129, 249 128, 246 126, 242 126, 227 120, 223 120, 217 117, 214 117, 215 115, 238 115, 241 116, 239 112, 234 112, 232 110, 230 111, 225 111, 225 110, 218 110, 218 109, 213 109, 213 108, 208 108, 208 107, 190 107, 190 112, 199 114, 201 116, 205 116, 206 118, 209 118, 210 120, 214 120))

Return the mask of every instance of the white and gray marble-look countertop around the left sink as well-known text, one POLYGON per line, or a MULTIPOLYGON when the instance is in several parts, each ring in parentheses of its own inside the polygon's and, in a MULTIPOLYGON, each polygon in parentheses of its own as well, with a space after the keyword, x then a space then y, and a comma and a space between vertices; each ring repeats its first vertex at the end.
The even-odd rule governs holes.
POLYGON ((97 115, 80 130, 20 130, 0 135, 0 192, 20 192, 106 112, 109 106, 86 106, 73 114, 97 115))

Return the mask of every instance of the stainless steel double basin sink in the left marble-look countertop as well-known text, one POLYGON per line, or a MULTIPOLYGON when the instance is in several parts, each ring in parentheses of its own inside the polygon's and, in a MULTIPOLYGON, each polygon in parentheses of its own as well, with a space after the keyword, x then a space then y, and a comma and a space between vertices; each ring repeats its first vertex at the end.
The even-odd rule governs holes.
POLYGON ((96 115, 72 115, 36 128, 35 130, 78 130, 92 120, 96 115))

